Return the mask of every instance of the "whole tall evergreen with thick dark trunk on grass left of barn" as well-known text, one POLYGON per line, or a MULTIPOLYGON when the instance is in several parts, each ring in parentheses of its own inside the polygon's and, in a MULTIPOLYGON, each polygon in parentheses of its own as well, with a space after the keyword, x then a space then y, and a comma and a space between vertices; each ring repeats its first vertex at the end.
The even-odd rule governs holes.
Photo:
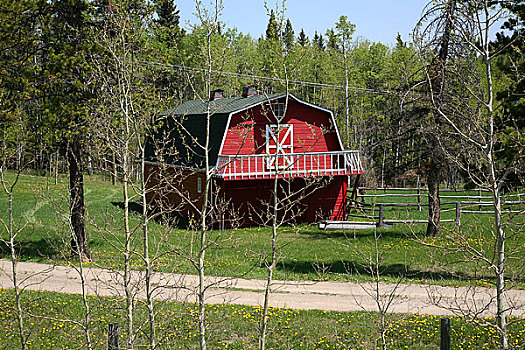
POLYGON ((57 0, 50 4, 49 23, 43 34, 47 48, 42 58, 44 108, 54 122, 55 137, 68 145, 71 253, 91 259, 85 227, 84 158, 89 127, 89 105, 94 97, 88 84, 91 54, 88 40, 90 5, 84 0, 57 0))

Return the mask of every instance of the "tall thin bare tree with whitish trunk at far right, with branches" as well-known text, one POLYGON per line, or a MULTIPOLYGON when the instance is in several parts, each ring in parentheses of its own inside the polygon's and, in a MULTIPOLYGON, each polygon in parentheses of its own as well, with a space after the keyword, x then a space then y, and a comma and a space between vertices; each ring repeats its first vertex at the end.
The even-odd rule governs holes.
MULTIPOLYGON (((438 36, 441 37, 442 45, 439 53, 440 60, 437 62, 438 65, 435 65, 435 69, 443 72, 441 74, 443 78, 445 72, 454 74, 448 75, 446 83, 443 78, 435 79, 435 93, 438 94, 435 98, 432 96, 433 104, 438 113, 436 117, 451 128, 451 134, 455 138, 461 140, 461 149, 449 152, 449 156, 477 186, 486 186, 492 193, 494 241, 490 256, 487 256, 485 250, 472 249, 468 243, 464 243, 463 232, 459 232, 459 245, 466 248, 473 260, 485 261, 494 271, 497 304, 496 329, 500 336, 499 347, 505 350, 509 348, 507 312, 511 306, 506 305, 505 296, 505 260, 507 258, 505 229, 507 223, 503 222, 502 217, 501 188, 509 174, 519 172, 517 169, 519 158, 510 159, 510 163, 507 163, 509 160, 505 159, 505 156, 502 159, 496 159, 495 145, 499 144, 498 147, 503 149, 506 147, 505 141, 500 139, 499 130, 505 130, 501 133, 505 135, 503 138, 507 137, 509 130, 518 135, 520 131, 519 126, 512 118, 508 118, 504 110, 501 112, 504 117, 498 118, 496 122, 491 59, 498 57, 500 52, 497 52, 495 50, 497 47, 491 44, 490 35, 491 30, 496 26, 499 27, 500 21, 508 17, 508 13, 505 5, 495 4, 489 0, 468 3, 448 0, 445 4, 446 7, 436 7, 442 13, 442 18, 446 20, 446 26, 444 33, 438 36), (454 56, 450 68, 446 66, 449 41, 454 52, 461 52, 461 55, 454 56), (465 60, 466 57, 472 60, 465 60), (464 69, 469 65, 474 68, 464 69), (453 88, 450 89, 450 87, 453 88), (460 91, 465 93, 461 94, 460 91), (474 105, 477 104, 473 109, 472 101, 475 101, 474 105), (476 166, 473 167, 472 164, 476 166), (499 167, 500 165, 504 167, 499 167)), ((429 76, 433 75, 434 72, 429 74, 429 76)), ((512 147, 515 146, 518 145, 512 147)), ((520 152, 517 154, 517 157, 521 157, 520 152)))

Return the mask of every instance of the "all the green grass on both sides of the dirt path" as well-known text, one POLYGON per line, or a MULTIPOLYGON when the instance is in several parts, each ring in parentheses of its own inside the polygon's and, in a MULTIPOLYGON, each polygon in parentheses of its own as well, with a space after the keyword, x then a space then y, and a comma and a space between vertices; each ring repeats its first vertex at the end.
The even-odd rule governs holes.
MULTIPOLYGON (((91 265, 121 268, 122 254, 122 190, 97 177, 86 180, 89 244, 94 262, 91 265)), ((467 192, 458 192, 459 195, 467 192)), ((65 262, 69 255, 67 225, 67 182, 54 185, 45 177, 24 175, 14 195, 15 226, 21 228, 17 237, 17 252, 22 260, 38 262, 65 262)), ((0 218, 6 220, 7 201, 0 193, 0 218)), ((413 198, 405 199, 413 201, 413 198)), ((379 197, 377 202, 392 202, 379 197)), ((396 199, 395 201, 400 201, 396 199)), ((401 200, 403 201, 403 200, 401 200)), ((362 212, 360 212, 362 214, 362 212)), ((453 218, 454 211, 442 217, 453 218)), ((387 219, 425 218, 425 209, 385 208, 387 219)), ((138 216, 133 223, 140 224, 138 216)), ((513 220, 522 220, 514 218, 513 220)), ((471 246, 490 252, 493 247, 490 215, 464 215, 462 237, 471 246)), ((140 226, 137 226, 140 229, 140 226)), ((437 238, 425 237, 425 225, 395 225, 379 229, 378 250, 381 255, 381 278, 386 281, 416 281, 446 285, 490 284, 493 279, 486 265, 463 259, 457 241, 454 223, 443 225, 443 234, 437 238), (451 250, 431 248, 421 244, 439 243, 451 250)), ((4 228, 0 229, 6 238, 4 228)), ((150 245, 154 248, 154 266, 161 271, 194 273, 186 256, 192 253, 192 232, 151 222, 150 245)), ((512 233, 512 231, 509 231, 512 233)), ((269 246, 270 230, 255 227, 237 230, 213 231, 207 254, 209 275, 265 276, 264 259, 269 246)), ((309 280, 369 280, 367 261, 375 252, 373 230, 320 231, 313 226, 289 226, 279 230, 280 263, 278 279, 309 280)), ((512 252, 507 260, 509 282, 518 287, 523 281, 521 248, 522 234, 509 234, 507 249, 512 252)), ((142 248, 140 231, 134 236, 133 247, 142 248)), ((8 257, 2 243, 0 254, 8 257)), ((142 266, 135 256, 134 268, 142 266)), ((13 295, 0 290, 0 349, 18 348, 13 314, 13 295)), ((23 309, 29 330, 31 349, 82 349, 85 347, 81 331, 82 302, 79 296, 50 292, 24 292, 23 309), (79 323, 80 322, 80 323, 79 323)), ((107 327, 118 322, 121 344, 124 344, 124 302, 115 298, 89 297, 91 306, 92 339, 97 349, 107 348, 107 327)), ((192 349, 197 347, 195 326, 196 309, 192 304, 158 303, 157 334, 165 349, 192 349)), ((136 305, 137 326, 145 325, 147 313, 142 303, 136 305)), ((253 349, 257 347, 257 321, 260 309, 249 306, 212 305, 208 309, 209 347, 211 349, 253 349)), ((268 347, 271 349, 373 349, 379 333, 374 313, 342 313, 272 309, 268 347)), ((481 320, 494 323, 493 320, 481 320)), ((525 324, 515 320, 509 326, 511 345, 519 348, 525 343, 525 324)), ((145 333, 139 331, 137 343, 146 344, 145 333)), ((420 315, 389 315, 387 339, 389 349, 438 349, 439 318, 420 315)), ((492 349, 497 347, 493 328, 452 319, 453 349, 492 349)), ((138 347, 140 348, 140 347, 138 347)))

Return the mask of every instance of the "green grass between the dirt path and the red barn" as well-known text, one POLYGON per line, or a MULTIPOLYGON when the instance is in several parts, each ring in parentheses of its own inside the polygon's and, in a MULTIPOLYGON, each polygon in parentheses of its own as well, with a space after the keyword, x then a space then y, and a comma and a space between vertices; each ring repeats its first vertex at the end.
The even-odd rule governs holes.
MULTIPOLYGON (((88 177, 85 183, 88 235, 94 256, 93 265, 120 268, 123 264, 119 248, 122 246, 122 190, 97 177, 88 177)), ((476 192, 477 193, 477 192, 476 192)), ((54 185, 51 179, 24 175, 20 178, 14 195, 14 211, 17 227, 25 225, 18 237, 17 250, 22 260, 39 262, 60 261, 69 255, 69 231, 67 226, 67 182, 54 185)), ((458 192, 463 195, 465 192, 458 192)), ((6 219, 7 201, 0 193, 0 217, 6 219)), ((413 198, 406 199, 414 201, 413 198)), ((391 198, 380 198, 389 202, 391 198)), ((385 208, 385 217, 425 218, 425 208, 385 208)), ((455 217, 454 211, 444 212, 443 218, 455 217)), ((139 225, 138 217, 133 223, 139 225)), ((493 247, 490 215, 463 215, 462 234, 470 244, 490 251, 493 247)), ((381 254, 381 276, 385 280, 421 281, 447 285, 462 285, 469 280, 478 284, 492 281, 491 270, 476 261, 466 261, 464 256, 443 249, 422 245, 439 243, 456 248, 456 241, 449 240, 456 230, 453 223, 443 224, 441 237, 425 237, 424 224, 395 225, 391 229, 379 229, 378 249, 381 254), (417 238, 417 239, 415 239, 417 238)), ((140 229, 140 227, 139 227, 140 229)), ((151 222, 150 245, 155 256, 157 270, 194 273, 184 255, 191 253, 193 232, 151 222)), ((5 232, 2 229, 2 235, 5 232)), ((213 231, 212 244, 207 254, 207 274, 220 276, 265 276, 264 259, 269 246, 270 230, 263 227, 237 230, 213 231)), ((275 277, 278 279, 308 280, 366 280, 367 261, 374 253, 373 230, 321 231, 316 225, 288 226, 279 230, 280 262, 275 277)), ((524 235, 509 235, 507 249, 521 250, 525 245, 524 235)), ((140 233, 135 235, 133 246, 142 249, 140 233)), ((2 245, 0 251, 7 257, 2 245)), ((517 285, 524 285, 523 259, 525 253, 510 255, 507 275, 517 285)), ((134 267, 141 267, 135 257, 134 267)))

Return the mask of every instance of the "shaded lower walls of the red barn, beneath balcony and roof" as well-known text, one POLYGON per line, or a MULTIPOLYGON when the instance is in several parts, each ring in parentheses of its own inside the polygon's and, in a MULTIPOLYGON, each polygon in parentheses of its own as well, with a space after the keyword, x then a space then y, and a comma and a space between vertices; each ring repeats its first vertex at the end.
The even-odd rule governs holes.
MULTIPOLYGON (((197 213, 187 203, 191 198, 197 207, 202 206, 203 195, 197 192, 197 179, 202 181, 204 190, 205 174, 181 170, 175 167, 159 170, 156 165, 148 164, 145 169, 147 202, 151 209, 169 210, 183 218, 196 216, 197 213), (159 173, 162 172, 162 177, 159 173), (181 196, 174 190, 182 192, 181 196), (183 199, 184 198, 184 199, 183 199)), ((286 212, 290 223, 313 223, 322 219, 343 220, 345 200, 347 195, 347 177, 335 176, 332 178, 279 180, 279 191, 297 193, 295 204, 286 212)), ((236 222, 241 226, 270 224, 268 220, 269 203, 272 203, 273 180, 239 180, 214 181, 214 189, 218 196, 214 201, 217 204, 214 220, 236 222)))

